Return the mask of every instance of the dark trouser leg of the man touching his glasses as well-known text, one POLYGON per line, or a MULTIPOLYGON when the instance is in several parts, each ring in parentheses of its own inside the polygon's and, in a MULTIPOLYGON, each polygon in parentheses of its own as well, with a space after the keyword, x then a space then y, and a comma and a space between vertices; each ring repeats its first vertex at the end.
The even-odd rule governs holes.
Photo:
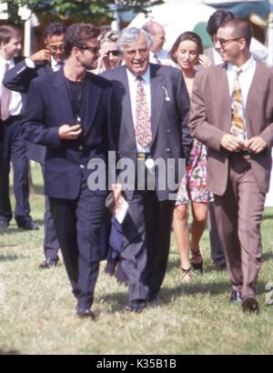
MULTIPOLYGON (((43 178, 45 175, 44 166, 42 166, 43 178)), ((45 196, 45 214, 44 214, 44 254, 45 259, 56 260, 59 249, 59 242, 56 237, 56 229, 54 226, 54 219, 51 214, 49 199, 45 196)))

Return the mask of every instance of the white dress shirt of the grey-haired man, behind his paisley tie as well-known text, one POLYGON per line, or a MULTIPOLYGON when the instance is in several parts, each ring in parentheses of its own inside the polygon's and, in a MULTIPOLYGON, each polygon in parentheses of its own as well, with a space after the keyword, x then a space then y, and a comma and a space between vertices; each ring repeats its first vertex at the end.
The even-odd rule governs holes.
MULTIPOLYGON (((126 73, 128 77, 128 84, 130 90, 130 98, 131 98, 131 107, 132 107, 132 116, 134 126, 136 128, 136 92, 137 92, 137 76, 133 74, 128 68, 126 68, 126 73)), ((147 68, 146 73, 141 76, 142 77, 142 86, 144 87, 146 98, 147 98, 147 106, 149 111, 149 116, 151 116, 151 84, 150 84, 150 68, 147 68)), ((140 146, 136 140, 136 150, 137 153, 149 153, 150 147, 149 146, 140 146)))

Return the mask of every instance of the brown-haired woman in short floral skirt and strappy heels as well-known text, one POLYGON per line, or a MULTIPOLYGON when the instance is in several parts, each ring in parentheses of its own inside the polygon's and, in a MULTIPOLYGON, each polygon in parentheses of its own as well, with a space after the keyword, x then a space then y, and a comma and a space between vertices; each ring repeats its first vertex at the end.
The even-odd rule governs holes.
MULTIPOLYGON (((170 50, 170 58, 181 68, 187 86, 187 93, 191 96, 192 86, 197 71, 195 66, 209 66, 207 56, 203 55, 202 40, 199 35, 186 32, 178 36, 176 43, 170 50)), ((213 195, 207 189, 207 148, 195 139, 187 164, 186 174, 182 178, 177 193, 174 211, 173 227, 177 240, 181 261, 181 280, 189 283, 192 268, 203 272, 203 257, 199 242, 207 223, 208 203, 213 201, 213 195), (188 204, 191 201, 193 221, 189 238, 188 204), (191 251, 191 260, 189 259, 191 251)))

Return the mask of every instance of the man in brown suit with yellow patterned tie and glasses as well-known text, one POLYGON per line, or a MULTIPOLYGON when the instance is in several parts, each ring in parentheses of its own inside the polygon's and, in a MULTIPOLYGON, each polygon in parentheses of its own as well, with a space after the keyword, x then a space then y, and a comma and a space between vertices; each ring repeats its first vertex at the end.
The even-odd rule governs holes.
POLYGON ((260 224, 273 146, 273 70, 249 53, 248 22, 232 19, 217 31, 225 62, 199 72, 189 127, 207 145, 207 185, 215 195, 219 236, 232 283, 230 301, 258 313, 260 224))

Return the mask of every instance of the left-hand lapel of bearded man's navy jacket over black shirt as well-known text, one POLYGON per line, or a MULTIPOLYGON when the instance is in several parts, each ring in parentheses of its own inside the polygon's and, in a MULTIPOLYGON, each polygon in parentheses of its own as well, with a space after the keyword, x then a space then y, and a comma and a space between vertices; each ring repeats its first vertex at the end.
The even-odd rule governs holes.
POLYGON ((64 76, 63 70, 59 70, 58 72, 56 72, 53 86, 55 87, 54 95, 55 95, 56 106, 61 116, 63 116, 65 123, 70 125, 70 124, 73 124, 74 122, 74 116, 72 112, 70 99, 68 96, 65 79, 66 78, 64 76))

